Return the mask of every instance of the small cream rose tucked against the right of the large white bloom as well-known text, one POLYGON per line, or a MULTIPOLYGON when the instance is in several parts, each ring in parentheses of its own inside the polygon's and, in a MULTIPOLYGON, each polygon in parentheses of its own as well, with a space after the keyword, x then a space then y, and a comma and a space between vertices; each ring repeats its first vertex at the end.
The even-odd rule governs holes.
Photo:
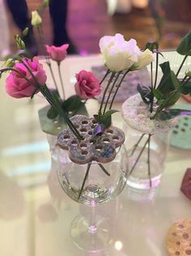
POLYGON ((151 64, 155 60, 154 54, 151 50, 146 49, 142 52, 142 54, 138 57, 138 62, 134 63, 131 70, 141 69, 142 67, 146 67, 147 65, 151 64))

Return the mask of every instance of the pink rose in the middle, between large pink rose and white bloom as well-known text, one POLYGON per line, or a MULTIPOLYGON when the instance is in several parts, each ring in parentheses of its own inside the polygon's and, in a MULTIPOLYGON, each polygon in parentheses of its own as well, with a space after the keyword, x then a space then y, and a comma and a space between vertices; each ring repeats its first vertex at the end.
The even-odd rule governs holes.
POLYGON ((91 72, 82 70, 75 77, 77 79, 77 83, 74 85, 75 92, 80 98, 94 98, 100 94, 100 83, 91 72))

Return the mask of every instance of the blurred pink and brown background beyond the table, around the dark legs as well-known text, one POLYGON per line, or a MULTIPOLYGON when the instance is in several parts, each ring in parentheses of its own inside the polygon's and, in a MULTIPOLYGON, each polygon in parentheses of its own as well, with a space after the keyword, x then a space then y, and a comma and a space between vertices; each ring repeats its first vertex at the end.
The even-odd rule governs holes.
MULTIPOLYGON (((27 3, 30 16, 40 0, 27 0, 27 3)), ((190 10, 190 0, 68 0, 66 27, 79 54, 99 53, 100 37, 115 33, 122 33, 126 40, 135 38, 142 49, 147 41, 159 41, 161 50, 169 50, 176 48, 180 38, 189 32, 190 10)), ((52 45, 49 8, 43 20, 45 42, 52 45)), ((19 28, 3 0, 0 0, 0 26, 0 52, 2 55, 14 52, 14 35, 19 33, 19 28)), ((40 50, 39 54, 42 54, 40 50)))

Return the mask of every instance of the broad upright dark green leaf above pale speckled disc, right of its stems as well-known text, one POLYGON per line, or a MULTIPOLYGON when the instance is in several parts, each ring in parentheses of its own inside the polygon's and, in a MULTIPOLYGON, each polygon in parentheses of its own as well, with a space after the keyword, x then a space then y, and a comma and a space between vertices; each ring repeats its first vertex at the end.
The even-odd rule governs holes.
POLYGON ((169 62, 162 63, 159 66, 162 69, 163 76, 159 82, 157 89, 159 89, 159 91, 165 96, 166 94, 170 93, 175 89, 175 85, 173 84, 174 76, 172 74, 169 62))

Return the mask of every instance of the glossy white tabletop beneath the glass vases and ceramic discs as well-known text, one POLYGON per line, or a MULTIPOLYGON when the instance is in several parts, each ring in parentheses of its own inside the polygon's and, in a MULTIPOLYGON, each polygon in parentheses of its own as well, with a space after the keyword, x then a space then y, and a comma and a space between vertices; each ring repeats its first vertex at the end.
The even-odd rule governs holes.
MULTIPOLYGON (((176 69, 176 54, 164 55, 174 59, 176 69)), ((67 58, 62 64, 66 95, 74 92, 76 72, 101 63, 100 55, 67 58)), ((32 102, 10 98, 1 80, 0 104, 0 255, 93 255, 70 239, 70 223, 89 208, 66 196, 51 167, 49 145, 37 115, 45 99, 40 94, 32 102)), ((91 114, 96 106, 95 101, 88 102, 91 114)), ((121 116, 116 116, 121 126, 121 116)), ((117 199, 98 207, 97 212, 111 218, 113 244, 94 255, 167 256, 168 228, 178 219, 191 218, 191 202, 180 192, 188 167, 191 151, 170 147, 159 193, 151 201, 131 200, 125 188, 117 199)))

